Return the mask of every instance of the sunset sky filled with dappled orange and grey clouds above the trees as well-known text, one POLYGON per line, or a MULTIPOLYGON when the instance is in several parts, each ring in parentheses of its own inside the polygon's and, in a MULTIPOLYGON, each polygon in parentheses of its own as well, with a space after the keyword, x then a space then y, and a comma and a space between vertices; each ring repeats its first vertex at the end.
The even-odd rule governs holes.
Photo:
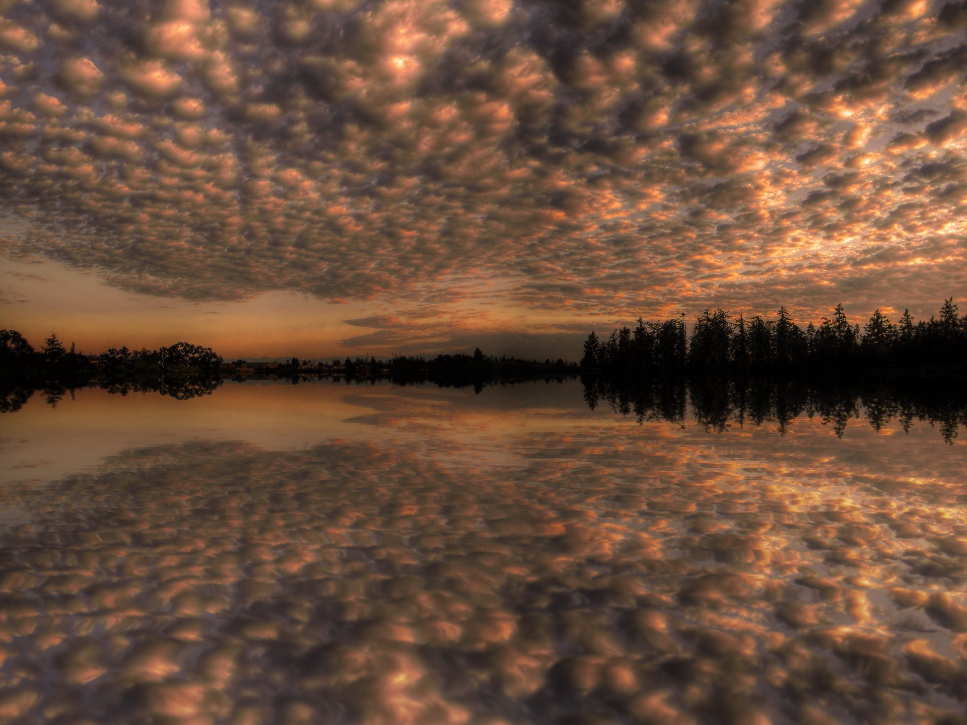
POLYGON ((0 326, 472 350, 967 292, 967 2, 2 0, 0 326))

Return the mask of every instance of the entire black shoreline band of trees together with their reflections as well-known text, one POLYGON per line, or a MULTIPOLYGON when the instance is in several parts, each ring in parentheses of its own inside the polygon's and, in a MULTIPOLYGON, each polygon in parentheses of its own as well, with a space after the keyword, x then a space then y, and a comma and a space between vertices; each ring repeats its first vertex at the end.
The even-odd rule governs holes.
POLYGON ((0 412, 18 410, 35 391, 56 405, 86 386, 128 394, 155 391, 185 399, 217 390, 225 380, 315 379, 347 385, 388 381, 443 388, 563 382, 580 376, 591 409, 609 406, 640 420, 684 423, 686 412, 710 431, 818 416, 841 435, 862 416, 877 431, 891 421, 937 424, 948 442, 967 426, 967 318, 945 301, 940 318, 894 325, 879 310, 861 331, 841 304, 832 318, 800 328, 784 307, 776 320, 706 310, 687 333, 684 316, 615 330, 584 343, 580 365, 474 355, 425 359, 394 356, 344 361, 225 362, 210 348, 179 342, 159 350, 110 349, 83 356, 56 335, 35 351, 15 331, 0 331, 0 412))

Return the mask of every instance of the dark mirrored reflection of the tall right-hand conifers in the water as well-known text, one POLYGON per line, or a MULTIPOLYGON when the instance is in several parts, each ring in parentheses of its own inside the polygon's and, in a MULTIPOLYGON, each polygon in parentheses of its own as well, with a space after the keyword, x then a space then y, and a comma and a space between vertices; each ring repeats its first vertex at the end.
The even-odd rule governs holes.
POLYGON ((819 419, 842 437, 853 421, 876 432, 894 424, 909 432, 917 420, 935 426, 952 443, 967 427, 967 389, 927 381, 891 385, 885 381, 817 384, 805 378, 656 378, 643 385, 600 375, 582 376, 584 400, 638 422, 664 420, 696 424, 710 432, 776 423, 780 434, 799 418, 819 419))

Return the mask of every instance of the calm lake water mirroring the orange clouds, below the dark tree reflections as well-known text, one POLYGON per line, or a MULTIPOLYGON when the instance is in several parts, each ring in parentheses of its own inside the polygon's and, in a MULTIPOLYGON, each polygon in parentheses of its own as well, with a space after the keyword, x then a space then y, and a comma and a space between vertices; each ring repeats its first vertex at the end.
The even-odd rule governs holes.
POLYGON ((0 722, 963 722, 963 438, 577 383, 35 395, 0 722))

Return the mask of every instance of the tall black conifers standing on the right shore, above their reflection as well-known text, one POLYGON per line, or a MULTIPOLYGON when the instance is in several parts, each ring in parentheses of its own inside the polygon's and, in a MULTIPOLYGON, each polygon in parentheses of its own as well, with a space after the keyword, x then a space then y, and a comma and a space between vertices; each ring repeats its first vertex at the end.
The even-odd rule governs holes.
POLYGON ((581 366, 616 378, 669 374, 734 375, 842 372, 967 373, 967 317, 953 300, 940 316, 915 322, 909 310, 893 322, 877 309, 861 328, 842 304, 832 317, 801 328, 785 307, 776 319, 732 317, 705 310, 686 333, 685 316, 660 322, 638 318, 601 340, 588 335, 581 366))

